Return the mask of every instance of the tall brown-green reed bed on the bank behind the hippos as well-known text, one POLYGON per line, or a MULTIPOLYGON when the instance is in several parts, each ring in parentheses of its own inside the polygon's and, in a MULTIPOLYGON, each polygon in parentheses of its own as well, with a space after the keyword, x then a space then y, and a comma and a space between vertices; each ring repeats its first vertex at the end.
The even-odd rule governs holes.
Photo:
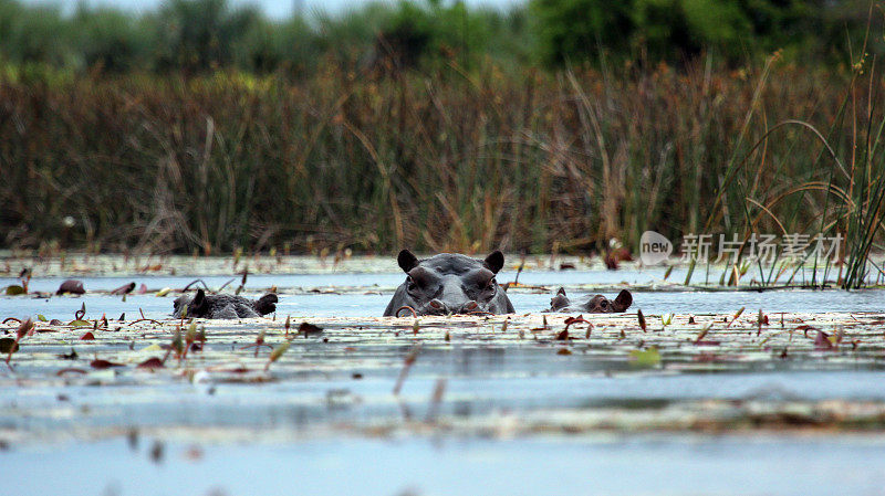
MULTIPOLYGON (((832 188, 785 193, 827 183, 821 140, 795 126, 763 136, 800 118, 851 149, 854 128, 833 102, 852 81, 708 59, 556 73, 452 61, 391 78, 331 65, 298 82, 7 76, 2 243, 587 252, 611 238, 633 246, 647 229, 674 240, 748 225, 819 232, 832 224, 832 188)), ((870 88, 855 102, 881 122, 881 83, 870 88)), ((875 190, 854 191, 876 210, 875 190)), ((852 230, 867 246, 872 221, 852 230)))

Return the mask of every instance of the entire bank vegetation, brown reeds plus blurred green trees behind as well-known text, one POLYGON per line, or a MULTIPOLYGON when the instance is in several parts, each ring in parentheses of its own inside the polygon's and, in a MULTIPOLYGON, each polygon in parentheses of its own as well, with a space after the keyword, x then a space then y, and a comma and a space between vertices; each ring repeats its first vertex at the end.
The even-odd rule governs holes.
POLYGON ((0 0, 0 246, 586 253, 647 229, 844 232, 870 201, 827 191, 865 192, 871 171, 885 191, 882 18, 850 0, 290 19, 0 0))

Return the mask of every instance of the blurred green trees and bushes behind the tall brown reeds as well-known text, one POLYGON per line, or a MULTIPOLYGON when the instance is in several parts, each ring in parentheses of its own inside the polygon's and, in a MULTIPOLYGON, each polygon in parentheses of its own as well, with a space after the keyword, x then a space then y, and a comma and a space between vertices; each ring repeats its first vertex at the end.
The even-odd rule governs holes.
MULTIPOLYGON (((350 70, 434 67, 456 61, 561 66, 605 57, 684 63, 711 51, 731 64, 782 50, 841 61, 862 38, 870 3, 831 0, 530 0, 507 9, 459 1, 374 2, 271 20, 226 0, 169 0, 133 17, 112 8, 0 0, 6 64, 70 71, 204 73, 237 68, 304 77, 350 70)), ((873 21, 881 23, 876 11, 873 21)), ((882 48, 881 38, 871 50, 882 48)))

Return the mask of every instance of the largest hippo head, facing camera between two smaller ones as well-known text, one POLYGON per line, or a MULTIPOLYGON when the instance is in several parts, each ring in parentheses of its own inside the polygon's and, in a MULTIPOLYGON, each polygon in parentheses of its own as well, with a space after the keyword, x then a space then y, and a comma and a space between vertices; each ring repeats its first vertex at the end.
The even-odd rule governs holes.
POLYGON ((396 316, 403 307, 410 307, 418 315, 514 312, 507 293, 494 279, 504 266, 504 255, 497 250, 486 260, 454 253, 418 260, 410 251, 403 250, 396 261, 408 275, 396 288, 385 316, 396 316))

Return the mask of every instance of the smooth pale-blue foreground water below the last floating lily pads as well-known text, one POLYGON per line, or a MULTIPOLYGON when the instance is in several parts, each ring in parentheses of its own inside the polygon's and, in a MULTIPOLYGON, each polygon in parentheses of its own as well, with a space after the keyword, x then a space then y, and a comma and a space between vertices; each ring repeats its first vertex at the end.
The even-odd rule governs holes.
POLYGON ((8 495, 882 495, 885 441, 740 436, 70 443, 0 454, 8 495), (236 468, 233 468, 236 467, 236 468), (104 474, 96 477, 95 474, 104 474))

